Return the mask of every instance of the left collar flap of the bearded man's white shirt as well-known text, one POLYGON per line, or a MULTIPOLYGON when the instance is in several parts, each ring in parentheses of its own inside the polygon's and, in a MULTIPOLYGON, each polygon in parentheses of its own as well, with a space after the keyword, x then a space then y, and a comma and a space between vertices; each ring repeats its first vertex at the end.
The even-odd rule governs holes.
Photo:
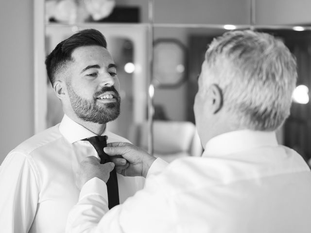
MULTIPOLYGON (((59 125, 59 131, 69 141, 69 143, 74 143, 88 137, 97 136, 97 134, 89 131, 84 126, 70 119, 66 114, 64 115, 62 122, 59 125)), ((104 133, 105 130, 103 134, 104 133)))

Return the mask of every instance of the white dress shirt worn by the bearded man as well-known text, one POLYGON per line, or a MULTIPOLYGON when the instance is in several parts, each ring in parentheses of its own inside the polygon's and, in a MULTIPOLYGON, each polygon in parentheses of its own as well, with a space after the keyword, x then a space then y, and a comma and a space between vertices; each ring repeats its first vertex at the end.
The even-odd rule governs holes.
MULTIPOLYGON (((95 136, 64 116, 62 122, 21 143, 0 166, 0 232, 64 233, 79 190, 74 174, 87 156, 98 154, 88 141, 95 136)), ((111 132, 107 143, 128 142, 111 132)), ((144 178, 118 176, 120 203, 141 189, 144 178)))

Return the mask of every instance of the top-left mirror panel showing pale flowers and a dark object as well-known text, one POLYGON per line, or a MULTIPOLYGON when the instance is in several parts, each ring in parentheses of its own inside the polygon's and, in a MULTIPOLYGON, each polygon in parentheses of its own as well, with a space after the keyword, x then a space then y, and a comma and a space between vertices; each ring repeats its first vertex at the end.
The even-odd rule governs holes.
POLYGON ((148 22, 147 0, 45 0, 46 22, 148 22))

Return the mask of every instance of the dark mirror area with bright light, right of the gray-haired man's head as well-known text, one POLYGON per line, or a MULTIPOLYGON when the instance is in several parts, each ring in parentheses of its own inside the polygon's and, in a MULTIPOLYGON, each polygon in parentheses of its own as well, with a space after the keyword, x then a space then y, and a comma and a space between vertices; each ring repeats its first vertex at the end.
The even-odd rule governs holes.
POLYGON ((296 57, 297 88, 294 91, 291 115, 285 121, 284 145, 296 150, 306 161, 311 159, 311 104, 308 89, 311 87, 311 31, 303 27, 292 29, 258 29, 281 38, 296 57))

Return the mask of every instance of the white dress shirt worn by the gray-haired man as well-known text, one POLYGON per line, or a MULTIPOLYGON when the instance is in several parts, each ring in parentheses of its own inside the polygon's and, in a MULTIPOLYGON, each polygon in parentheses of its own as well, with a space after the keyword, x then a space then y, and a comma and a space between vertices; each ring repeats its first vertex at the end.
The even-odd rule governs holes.
POLYGON ((66 232, 310 233, 310 214, 302 157, 275 133, 236 131, 212 138, 202 157, 156 159, 144 189, 109 212, 105 183, 91 179, 66 232))

